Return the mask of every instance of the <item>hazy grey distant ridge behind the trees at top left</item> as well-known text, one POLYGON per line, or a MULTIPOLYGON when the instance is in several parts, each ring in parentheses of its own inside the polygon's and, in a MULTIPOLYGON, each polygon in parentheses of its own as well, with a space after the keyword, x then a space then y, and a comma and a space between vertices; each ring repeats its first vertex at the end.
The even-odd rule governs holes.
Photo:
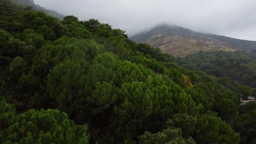
POLYGON ((40 5, 35 4, 33 0, 10 0, 10 1, 18 3, 18 4, 22 4, 22 5, 29 5, 34 9, 44 11, 44 13, 46 13, 50 16, 53 16, 53 17, 57 17, 60 20, 63 20, 63 18, 65 17, 64 15, 57 13, 57 11, 55 11, 55 10, 50 10, 50 9, 40 7, 40 5))

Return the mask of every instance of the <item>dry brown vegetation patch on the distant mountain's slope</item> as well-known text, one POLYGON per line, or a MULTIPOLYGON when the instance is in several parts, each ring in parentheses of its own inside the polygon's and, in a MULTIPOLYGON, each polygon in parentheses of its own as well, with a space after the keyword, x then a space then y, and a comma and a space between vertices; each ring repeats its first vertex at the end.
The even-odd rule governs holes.
POLYGON ((174 57, 185 57, 199 51, 235 51, 228 44, 218 40, 197 39, 179 36, 153 35, 142 43, 159 47, 162 52, 170 53, 174 57))

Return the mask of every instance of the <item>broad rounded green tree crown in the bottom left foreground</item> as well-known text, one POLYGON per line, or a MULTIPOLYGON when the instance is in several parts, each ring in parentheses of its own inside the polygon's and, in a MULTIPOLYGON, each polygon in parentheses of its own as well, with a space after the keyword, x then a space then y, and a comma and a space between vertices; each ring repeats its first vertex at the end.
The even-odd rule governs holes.
POLYGON ((88 143, 86 125, 74 125, 57 110, 30 110, 15 118, 7 130, 7 140, 18 143, 88 143))

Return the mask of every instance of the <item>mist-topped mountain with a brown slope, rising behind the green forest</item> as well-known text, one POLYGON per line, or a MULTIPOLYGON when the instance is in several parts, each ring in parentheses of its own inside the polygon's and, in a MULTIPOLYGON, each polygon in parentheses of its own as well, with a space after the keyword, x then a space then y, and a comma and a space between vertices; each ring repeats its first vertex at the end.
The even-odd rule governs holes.
POLYGON ((176 25, 159 25, 148 32, 130 37, 136 43, 159 47, 175 57, 200 51, 236 51, 256 49, 256 41, 238 40, 213 34, 202 34, 176 25))

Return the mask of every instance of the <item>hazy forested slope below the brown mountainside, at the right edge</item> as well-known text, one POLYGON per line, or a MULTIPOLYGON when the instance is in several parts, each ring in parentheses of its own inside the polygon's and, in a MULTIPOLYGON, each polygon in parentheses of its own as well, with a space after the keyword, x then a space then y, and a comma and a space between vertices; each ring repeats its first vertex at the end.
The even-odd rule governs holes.
MULTIPOLYGON (((184 68, 202 70, 209 75, 216 76, 220 83, 229 85, 229 87, 237 85, 237 82, 251 88, 256 87, 255 51, 199 52, 185 58, 177 58, 176 62, 184 68)), ((238 91, 241 92, 243 89, 248 88, 243 87, 238 91)), ((251 95, 248 93, 247 96, 251 95)))

